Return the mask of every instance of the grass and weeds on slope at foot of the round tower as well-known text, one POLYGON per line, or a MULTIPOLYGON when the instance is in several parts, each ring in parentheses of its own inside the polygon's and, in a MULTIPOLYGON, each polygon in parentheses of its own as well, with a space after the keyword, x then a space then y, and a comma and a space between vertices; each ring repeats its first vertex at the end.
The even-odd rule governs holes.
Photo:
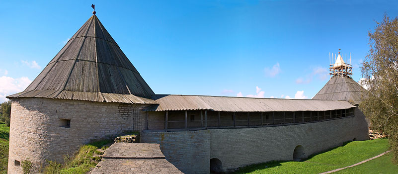
POLYGON ((49 165, 44 169, 44 174, 85 174, 101 161, 101 157, 94 157, 94 153, 99 152, 97 149, 111 142, 112 140, 99 140, 81 146, 75 156, 65 156, 65 165, 48 161, 49 165))

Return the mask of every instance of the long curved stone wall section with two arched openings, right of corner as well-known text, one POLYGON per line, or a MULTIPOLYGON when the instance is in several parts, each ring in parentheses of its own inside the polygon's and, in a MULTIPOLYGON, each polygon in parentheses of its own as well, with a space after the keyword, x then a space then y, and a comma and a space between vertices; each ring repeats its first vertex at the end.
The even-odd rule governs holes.
MULTIPOLYGON (((359 114, 359 113, 358 113, 359 114)), ((293 160, 296 146, 306 156, 341 145, 369 139, 363 116, 289 126, 246 129, 211 129, 210 159, 217 158, 223 169, 233 170, 267 161, 293 160)))

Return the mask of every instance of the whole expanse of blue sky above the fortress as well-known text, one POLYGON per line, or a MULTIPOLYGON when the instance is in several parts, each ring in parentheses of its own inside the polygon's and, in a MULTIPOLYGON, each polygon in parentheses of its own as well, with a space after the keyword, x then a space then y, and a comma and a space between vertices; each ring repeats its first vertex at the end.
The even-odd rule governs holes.
POLYGON ((158 94, 311 98, 329 52, 361 78, 393 0, 0 1, 0 101, 22 91, 92 15, 158 94), (349 61, 348 61, 349 63, 349 61))

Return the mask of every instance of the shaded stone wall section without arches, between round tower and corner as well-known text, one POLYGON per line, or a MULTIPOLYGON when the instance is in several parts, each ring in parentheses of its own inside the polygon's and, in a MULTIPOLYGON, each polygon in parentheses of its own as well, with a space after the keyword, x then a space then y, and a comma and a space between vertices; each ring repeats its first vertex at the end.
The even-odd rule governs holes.
POLYGON ((210 174, 210 131, 141 133, 141 142, 159 143, 166 160, 185 174, 210 174))

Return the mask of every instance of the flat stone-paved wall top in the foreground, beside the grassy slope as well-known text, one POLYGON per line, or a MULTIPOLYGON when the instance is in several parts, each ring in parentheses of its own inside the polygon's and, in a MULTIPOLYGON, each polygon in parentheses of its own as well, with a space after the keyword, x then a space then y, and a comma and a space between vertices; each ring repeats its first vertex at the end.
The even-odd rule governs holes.
POLYGON ((159 144, 114 143, 88 174, 182 174, 169 163, 159 144))

